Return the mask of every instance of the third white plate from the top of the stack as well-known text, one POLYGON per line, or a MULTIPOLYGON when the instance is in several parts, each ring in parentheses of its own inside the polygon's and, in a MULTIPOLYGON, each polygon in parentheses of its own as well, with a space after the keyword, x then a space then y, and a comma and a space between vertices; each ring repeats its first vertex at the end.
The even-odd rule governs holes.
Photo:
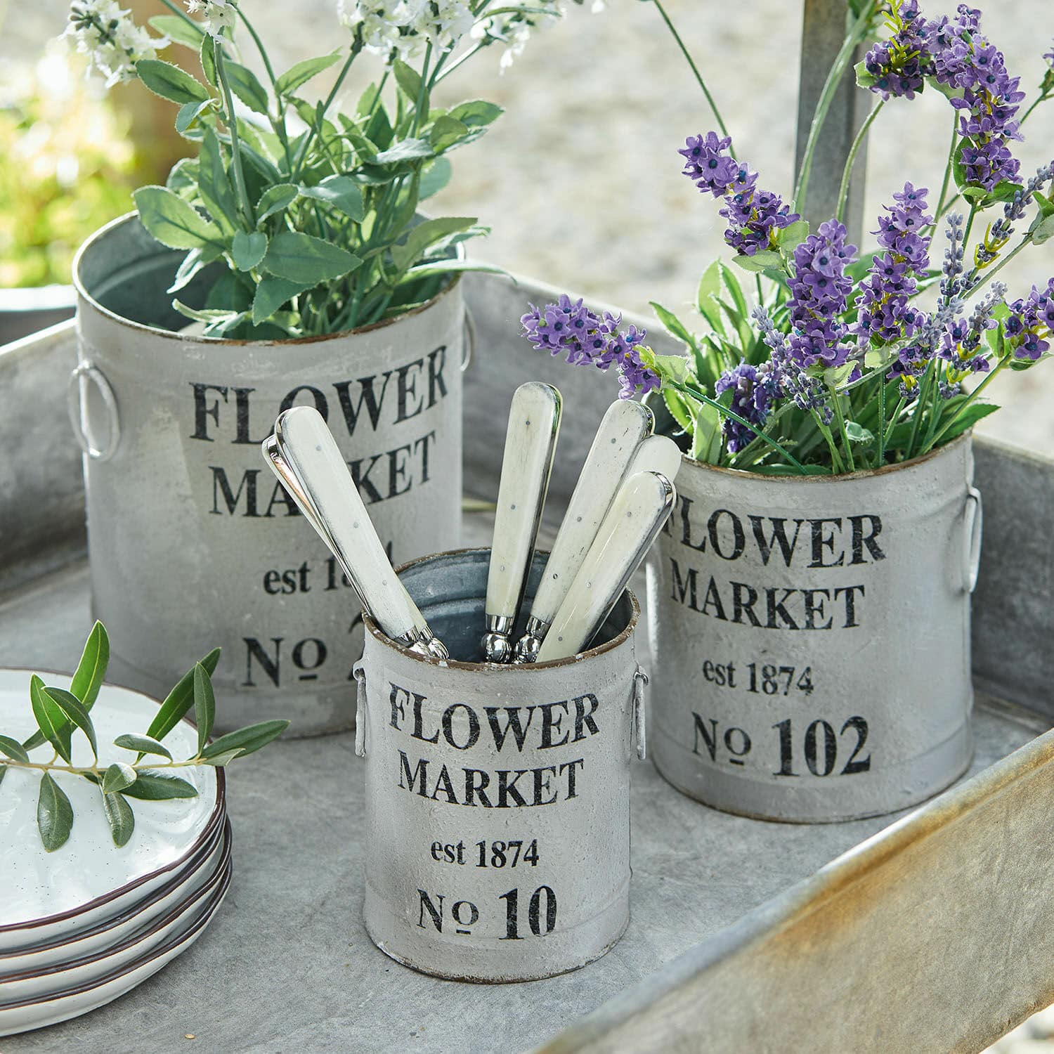
POLYGON ((188 918, 208 905, 210 898, 230 875, 231 843, 228 839, 223 841, 223 857, 212 878, 171 907, 161 918, 155 919, 145 930, 131 934, 102 952, 0 978, 0 1010, 12 1002, 47 998, 57 991, 96 984, 100 978, 115 970, 121 970, 149 956, 155 948, 187 929, 188 918))

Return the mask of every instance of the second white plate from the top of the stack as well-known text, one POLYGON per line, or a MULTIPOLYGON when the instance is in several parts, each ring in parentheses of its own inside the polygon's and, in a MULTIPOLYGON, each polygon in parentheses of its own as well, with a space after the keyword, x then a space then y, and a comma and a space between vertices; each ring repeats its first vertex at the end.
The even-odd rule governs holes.
MULTIPOLYGON (((201 889, 229 856, 228 842, 231 825, 228 822, 203 845, 188 866, 171 878, 160 889, 140 903, 122 912, 116 918, 100 922, 90 930, 77 933, 69 939, 60 938, 46 945, 34 945, 23 952, 8 952, 0 955, 0 981, 13 974, 40 970, 56 963, 82 959, 90 955, 106 952, 122 941, 139 933, 145 933, 151 924, 169 914, 177 905, 187 902, 201 889)), ((2 989, 0 989, 2 993, 2 989)), ((3 996, 0 994, 0 999, 3 996)))

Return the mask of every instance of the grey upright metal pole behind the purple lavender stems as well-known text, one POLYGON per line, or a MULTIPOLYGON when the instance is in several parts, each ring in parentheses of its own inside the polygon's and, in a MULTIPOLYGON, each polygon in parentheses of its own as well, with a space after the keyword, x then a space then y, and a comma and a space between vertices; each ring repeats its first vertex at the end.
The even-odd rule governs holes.
MULTIPOLYGON (((835 56, 845 39, 845 31, 851 19, 845 0, 804 0, 803 7, 796 171, 801 164, 816 104, 835 56)), ((858 51, 862 53, 862 48, 858 51)), ((862 54, 854 61, 860 57, 862 54)), ((814 231, 818 225, 835 215, 845 158, 848 156, 857 131, 871 110, 872 102, 871 93, 856 86, 853 72, 850 70, 835 95, 823 132, 817 141, 812 175, 801 207, 802 216, 809 221, 814 231)), ((857 245, 860 245, 863 229, 866 164, 867 148, 863 145, 857 154, 845 212, 845 226, 848 228, 850 239, 857 245)))

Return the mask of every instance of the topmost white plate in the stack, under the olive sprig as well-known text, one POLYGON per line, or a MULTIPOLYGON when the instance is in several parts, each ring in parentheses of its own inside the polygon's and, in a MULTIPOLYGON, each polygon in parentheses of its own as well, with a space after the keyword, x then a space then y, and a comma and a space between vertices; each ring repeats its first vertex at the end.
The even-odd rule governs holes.
MULTIPOLYGON (((0 727, 26 739, 36 723, 30 708, 31 670, 0 669, 0 727)), ((45 683, 67 687, 69 677, 42 675, 45 683)), ((128 761, 128 750, 114 746, 122 733, 144 733, 157 703, 128 688, 104 685, 92 710, 99 743, 99 763, 128 761)), ((197 734, 181 722, 164 739, 178 760, 190 757, 197 734)), ((50 758, 50 746, 34 758, 50 758)), ((74 734, 74 762, 90 764, 91 749, 74 734)), ((163 759, 159 759, 163 760, 163 759)), ((0 785, 0 953, 47 943, 94 926, 128 910, 171 880, 222 823, 223 776, 211 766, 183 768, 178 775, 198 787, 196 798, 138 801, 136 827, 129 843, 117 848, 103 816, 98 788, 79 777, 56 777, 74 808, 70 840, 54 853, 40 844, 37 797, 40 777, 8 768, 0 785)))

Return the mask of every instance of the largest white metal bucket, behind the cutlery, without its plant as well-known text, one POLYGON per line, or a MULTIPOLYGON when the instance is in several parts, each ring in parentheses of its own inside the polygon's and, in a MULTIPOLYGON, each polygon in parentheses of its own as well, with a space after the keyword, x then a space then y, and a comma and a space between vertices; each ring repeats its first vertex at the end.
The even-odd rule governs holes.
MULTIPOLYGON (((218 730, 277 717, 292 719, 294 735, 350 727, 358 605, 259 444, 280 410, 316 406, 395 562, 456 545, 461 284, 350 333, 202 339, 173 332, 186 323, 165 292, 179 258, 129 216, 75 266, 71 414, 85 452, 92 605, 110 630, 111 668, 163 697, 219 644, 218 730)), ((180 296, 197 302, 204 281, 180 296)))

